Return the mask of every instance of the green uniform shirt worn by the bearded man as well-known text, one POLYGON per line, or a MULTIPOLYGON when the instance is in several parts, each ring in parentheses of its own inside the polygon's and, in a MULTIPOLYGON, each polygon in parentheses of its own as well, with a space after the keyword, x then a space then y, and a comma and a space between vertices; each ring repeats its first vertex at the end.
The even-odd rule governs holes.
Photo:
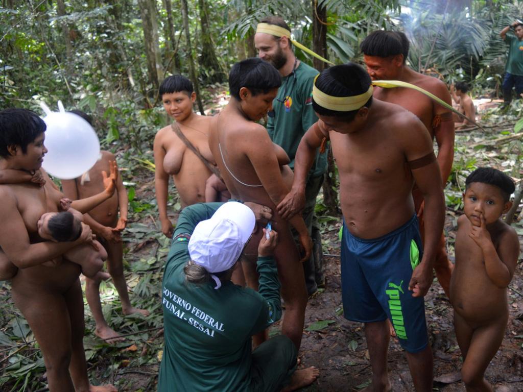
MULTIPOLYGON (((269 117, 267 131, 270 139, 280 145, 291 162, 289 166, 294 169, 294 156, 300 144, 301 137, 312 124, 318 121, 312 109, 312 86, 318 72, 311 66, 300 62, 294 71, 296 78, 291 73, 281 81, 276 99, 272 101, 272 108, 276 116, 269 117), (285 103, 283 101, 289 97, 285 103)), ((311 167, 310 175, 319 176, 327 171, 327 153, 316 152, 316 159, 311 167)))

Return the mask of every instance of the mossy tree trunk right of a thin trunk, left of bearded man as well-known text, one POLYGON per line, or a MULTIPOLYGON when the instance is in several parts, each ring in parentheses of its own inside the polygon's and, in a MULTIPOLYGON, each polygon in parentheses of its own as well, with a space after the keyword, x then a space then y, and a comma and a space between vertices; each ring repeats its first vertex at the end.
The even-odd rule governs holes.
POLYGON ((198 0, 200 8, 201 25, 201 57, 200 64, 207 71, 206 79, 210 83, 223 82, 224 73, 214 52, 214 43, 211 37, 211 24, 209 21, 209 10, 205 0, 198 0))

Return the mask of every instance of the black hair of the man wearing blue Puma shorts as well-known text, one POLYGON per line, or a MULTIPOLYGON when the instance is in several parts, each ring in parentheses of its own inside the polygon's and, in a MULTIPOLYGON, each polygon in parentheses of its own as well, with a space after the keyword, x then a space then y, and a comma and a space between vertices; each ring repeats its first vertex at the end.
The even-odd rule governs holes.
MULTIPOLYGON (((334 65, 322 71, 316 79, 315 86, 320 91, 333 97, 353 97, 366 93, 369 89, 371 79, 369 74, 358 64, 348 63, 334 65)), ((370 108, 372 96, 362 107, 370 108)), ((337 110, 326 109, 314 101, 312 98, 312 108, 321 116, 339 117, 341 121, 351 122, 356 117, 358 110, 340 112, 337 110)))

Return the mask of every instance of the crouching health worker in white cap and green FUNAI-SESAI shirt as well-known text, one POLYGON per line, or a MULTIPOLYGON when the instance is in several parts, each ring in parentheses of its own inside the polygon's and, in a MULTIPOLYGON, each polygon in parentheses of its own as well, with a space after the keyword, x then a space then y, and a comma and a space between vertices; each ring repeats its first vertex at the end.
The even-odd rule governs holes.
POLYGON ((238 202, 194 204, 181 212, 163 278, 158 391, 294 390, 319 374, 314 367, 294 371, 297 350, 286 336, 252 351, 251 336, 281 317, 274 230, 264 229, 259 243, 258 292, 231 282, 255 221, 238 202))

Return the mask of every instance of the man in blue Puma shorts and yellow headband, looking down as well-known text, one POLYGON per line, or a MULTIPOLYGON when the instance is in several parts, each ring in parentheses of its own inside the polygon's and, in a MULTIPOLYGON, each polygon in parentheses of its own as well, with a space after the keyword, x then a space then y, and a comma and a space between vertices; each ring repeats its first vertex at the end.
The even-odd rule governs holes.
POLYGON ((439 167, 430 135, 412 113, 372 98, 371 79, 349 63, 324 70, 313 89, 319 121, 298 147, 292 190, 278 205, 300 211, 315 151, 330 139, 344 216, 342 295, 345 317, 365 322, 372 366, 368 391, 391 389, 387 351, 391 319, 406 351, 417 391, 432 389, 423 296, 445 217, 439 167), (412 200, 416 181, 425 199, 425 251, 412 200), (412 291, 412 292, 410 292, 412 291))

